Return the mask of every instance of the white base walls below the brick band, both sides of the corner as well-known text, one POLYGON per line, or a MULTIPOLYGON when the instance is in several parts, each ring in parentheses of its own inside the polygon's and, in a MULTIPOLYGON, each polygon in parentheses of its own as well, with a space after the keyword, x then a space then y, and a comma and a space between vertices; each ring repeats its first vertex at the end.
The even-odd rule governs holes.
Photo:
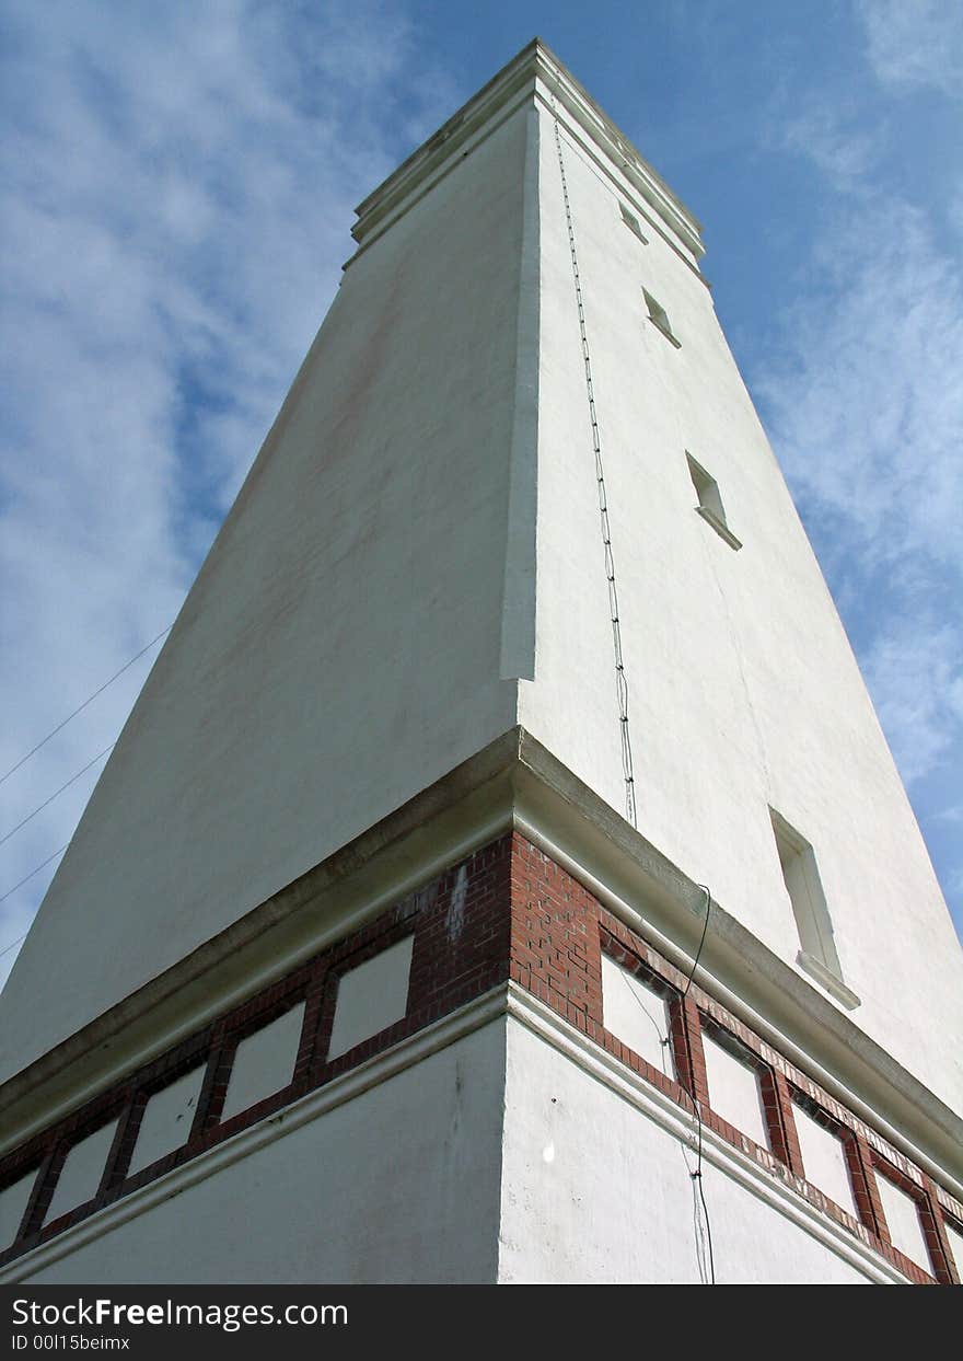
MULTIPOLYGON (((630 1285, 705 1271, 694 1151, 513 1015, 291 1126, 5 1278, 630 1285)), ((709 1158, 702 1170, 718 1282, 872 1278, 709 1158)))

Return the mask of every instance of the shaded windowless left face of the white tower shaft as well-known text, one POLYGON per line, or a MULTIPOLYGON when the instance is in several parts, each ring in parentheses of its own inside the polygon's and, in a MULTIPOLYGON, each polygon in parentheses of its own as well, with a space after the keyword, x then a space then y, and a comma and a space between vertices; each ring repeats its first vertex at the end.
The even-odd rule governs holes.
POLYGON ((528 124, 347 271, 3 992, 0 1079, 516 723, 528 124))

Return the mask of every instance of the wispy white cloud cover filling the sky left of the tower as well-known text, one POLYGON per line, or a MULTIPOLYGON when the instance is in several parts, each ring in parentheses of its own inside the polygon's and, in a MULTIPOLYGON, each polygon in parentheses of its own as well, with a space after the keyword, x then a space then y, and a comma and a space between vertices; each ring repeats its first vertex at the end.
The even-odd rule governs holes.
MULTIPOLYGON (((354 204, 454 102, 404 11, 365 0, 23 5, 4 53, 0 769, 170 622, 354 204)), ((116 736, 143 675, 0 787, 0 834, 116 736)), ((0 893, 95 773, 0 848, 0 893)), ((0 905, 0 946, 49 874, 0 905)))

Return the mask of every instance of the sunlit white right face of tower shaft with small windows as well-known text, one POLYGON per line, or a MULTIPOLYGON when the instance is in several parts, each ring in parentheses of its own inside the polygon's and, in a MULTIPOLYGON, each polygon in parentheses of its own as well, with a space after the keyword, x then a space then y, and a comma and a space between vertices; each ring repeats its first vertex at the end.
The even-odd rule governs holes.
MULTIPOLYGON (((520 721, 624 813, 585 370, 552 120, 540 118, 537 659, 520 721)), ((639 830, 794 965, 778 810, 815 849, 843 977, 862 1000, 850 1015, 960 1109, 963 953, 711 294, 645 222, 639 242, 624 196, 567 137, 564 157, 639 830), (680 348, 647 318, 643 289, 680 348), (686 450, 717 479, 740 551, 695 512, 686 450)))

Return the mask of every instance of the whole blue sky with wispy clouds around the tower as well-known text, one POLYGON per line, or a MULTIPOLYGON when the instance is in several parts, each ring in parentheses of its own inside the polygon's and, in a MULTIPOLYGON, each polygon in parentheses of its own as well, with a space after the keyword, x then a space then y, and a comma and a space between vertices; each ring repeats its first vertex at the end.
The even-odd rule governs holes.
MULTIPOLYGON (((173 619, 354 206, 536 33, 705 223, 963 932, 949 0, 3 0, 0 773, 173 619)), ((152 655, 0 784, 0 838, 113 740, 152 655)), ((69 838, 101 768, 0 841, 0 894, 69 838)), ((0 949, 54 863, 0 902, 0 949)))

